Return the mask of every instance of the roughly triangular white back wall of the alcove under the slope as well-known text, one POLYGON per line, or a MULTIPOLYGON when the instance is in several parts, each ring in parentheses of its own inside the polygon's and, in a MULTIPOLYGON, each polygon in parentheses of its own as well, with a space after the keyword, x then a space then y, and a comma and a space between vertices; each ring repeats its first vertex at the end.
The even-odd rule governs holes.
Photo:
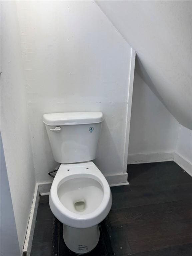
POLYGON ((175 152, 179 123, 135 72, 128 155, 175 152))

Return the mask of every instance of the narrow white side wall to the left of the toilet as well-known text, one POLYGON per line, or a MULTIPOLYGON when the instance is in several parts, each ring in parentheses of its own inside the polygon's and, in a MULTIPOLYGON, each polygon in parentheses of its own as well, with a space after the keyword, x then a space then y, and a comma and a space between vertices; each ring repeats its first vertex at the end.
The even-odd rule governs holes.
POLYGON ((34 187, 25 80, 15 1, 1 2, 1 134, 20 251, 34 187))

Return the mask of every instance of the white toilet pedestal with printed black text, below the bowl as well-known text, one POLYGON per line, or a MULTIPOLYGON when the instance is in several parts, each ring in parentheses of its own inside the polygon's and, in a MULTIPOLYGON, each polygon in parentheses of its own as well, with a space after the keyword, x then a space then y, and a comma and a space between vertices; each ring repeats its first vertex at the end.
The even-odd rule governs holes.
POLYGON ((78 254, 88 253, 99 241, 99 226, 90 228, 72 228, 63 225, 63 239, 66 246, 78 254))

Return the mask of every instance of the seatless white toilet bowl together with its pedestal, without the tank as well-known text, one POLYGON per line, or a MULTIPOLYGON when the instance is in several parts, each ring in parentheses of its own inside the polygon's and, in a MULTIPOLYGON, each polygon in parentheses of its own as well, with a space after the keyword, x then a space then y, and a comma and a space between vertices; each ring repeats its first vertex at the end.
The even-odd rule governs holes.
POLYGON ((98 243, 100 223, 109 213, 109 184, 92 162, 61 164, 53 180, 49 205, 64 224, 63 238, 76 253, 91 251, 98 243))

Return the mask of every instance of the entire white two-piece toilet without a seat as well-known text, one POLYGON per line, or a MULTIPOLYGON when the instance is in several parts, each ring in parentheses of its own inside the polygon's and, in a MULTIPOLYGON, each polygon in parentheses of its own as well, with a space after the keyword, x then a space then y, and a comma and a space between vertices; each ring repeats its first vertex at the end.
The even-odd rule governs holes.
POLYGON ((92 162, 103 119, 102 112, 43 115, 54 159, 61 163, 51 186, 49 205, 63 223, 66 246, 78 254, 95 248, 98 224, 112 204, 109 184, 92 162))

